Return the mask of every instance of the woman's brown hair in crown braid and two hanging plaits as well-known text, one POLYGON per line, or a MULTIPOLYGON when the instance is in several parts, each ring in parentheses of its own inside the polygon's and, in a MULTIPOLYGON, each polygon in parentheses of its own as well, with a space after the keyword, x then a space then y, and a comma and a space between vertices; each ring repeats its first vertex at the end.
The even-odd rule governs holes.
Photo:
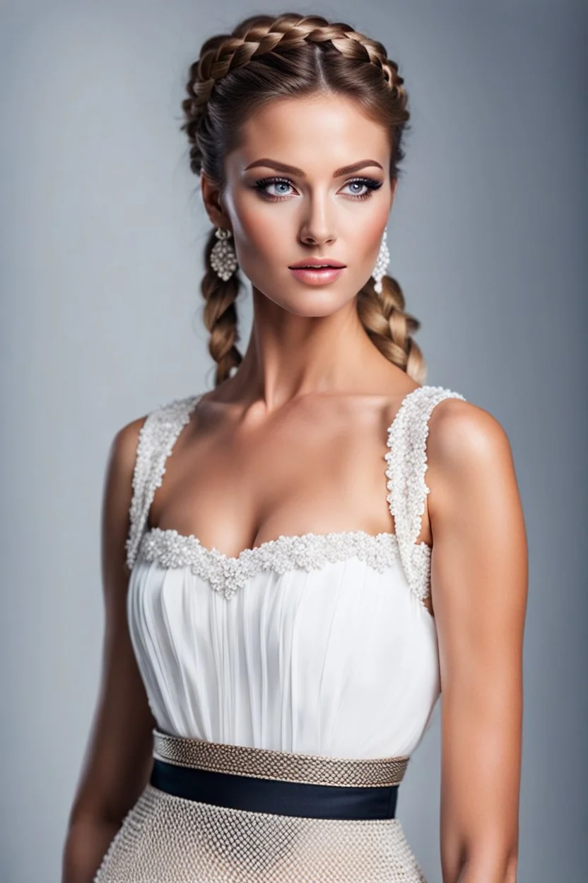
MULTIPOLYGON (((188 98, 182 102, 182 132, 190 141, 190 169, 205 172, 224 186, 224 157, 236 146, 239 127, 260 104, 276 98, 318 91, 352 96, 361 109, 390 132, 391 180, 404 158, 403 133, 410 117, 404 79, 382 43, 370 40, 342 22, 287 12, 242 20, 231 34, 217 34, 203 44, 190 67, 188 98)), ((210 256, 217 242, 211 230, 205 245, 204 321, 210 332, 209 352, 217 363, 215 385, 239 366, 242 354, 235 299, 237 273, 223 281, 210 256)), ((386 358, 421 382, 426 366, 413 333, 421 322, 405 312, 405 297, 396 279, 383 277, 377 294, 374 280, 358 292, 357 313, 373 343, 386 358)))

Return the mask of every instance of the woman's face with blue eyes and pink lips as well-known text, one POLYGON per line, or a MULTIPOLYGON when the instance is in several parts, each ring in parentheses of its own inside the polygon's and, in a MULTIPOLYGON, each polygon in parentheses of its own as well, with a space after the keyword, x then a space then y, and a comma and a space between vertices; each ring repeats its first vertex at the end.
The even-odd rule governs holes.
POLYGON ((243 126, 225 191, 203 176, 202 192, 254 288, 291 313, 323 316, 353 300, 376 265, 394 199, 390 159, 385 129, 352 99, 280 99, 243 126), (293 267, 309 260, 339 269, 293 267))

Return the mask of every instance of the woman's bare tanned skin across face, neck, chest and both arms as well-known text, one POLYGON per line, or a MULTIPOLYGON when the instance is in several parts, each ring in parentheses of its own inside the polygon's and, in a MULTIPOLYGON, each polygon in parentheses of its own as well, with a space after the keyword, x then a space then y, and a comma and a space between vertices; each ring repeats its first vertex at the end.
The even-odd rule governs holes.
MULTIPOLYGON (((232 230, 252 285, 253 331, 238 372, 206 393, 182 428, 149 526, 193 533, 225 555, 280 533, 394 532, 386 428, 418 384, 377 350, 355 307, 394 200, 390 158, 388 133, 352 99, 298 96, 250 115, 226 158, 224 188, 202 176, 205 210, 232 230), (370 179, 369 192, 358 177, 370 179), (304 284, 289 265, 307 256, 339 260, 345 272, 328 285, 304 284)), ((63 883, 91 883, 153 762, 155 721, 125 612, 143 419, 120 430, 108 462, 102 678, 63 883)), ((488 411, 448 398, 429 420, 427 455, 417 542, 433 547, 443 883, 514 883, 527 549, 510 444, 488 411)))

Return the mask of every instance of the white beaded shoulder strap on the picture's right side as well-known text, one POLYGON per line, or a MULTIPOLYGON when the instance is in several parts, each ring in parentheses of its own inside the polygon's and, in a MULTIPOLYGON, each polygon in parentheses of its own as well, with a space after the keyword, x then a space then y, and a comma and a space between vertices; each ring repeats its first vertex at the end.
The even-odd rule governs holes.
POLYGON ((440 386, 421 386, 413 389, 402 401, 396 417, 388 429, 386 477, 388 503, 394 517, 400 561, 413 592, 419 598, 428 595, 428 558, 423 559, 426 543, 416 546, 421 533, 421 517, 425 498, 430 488, 425 481, 427 472, 428 420, 435 405, 445 398, 465 396, 440 386), (418 550, 415 555, 415 550, 418 550))

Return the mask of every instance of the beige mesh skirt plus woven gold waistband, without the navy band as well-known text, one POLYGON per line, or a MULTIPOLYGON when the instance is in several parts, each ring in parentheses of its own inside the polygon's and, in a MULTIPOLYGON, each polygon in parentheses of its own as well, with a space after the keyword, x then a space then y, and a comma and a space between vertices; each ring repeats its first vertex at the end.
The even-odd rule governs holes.
MULTIPOLYGON (((154 757, 221 774, 369 788, 398 784, 407 758, 337 760, 200 743, 154 731, 154 757), (245 772, 242 772, 245 770, 245 772), (266 771, 265 774, 263 771, 266 771), (249 772, 248 772, 249 771, 249 772), (261 772, 261 776, 260 776, 261 772)), ((426 883, 396 818, 310 818, 170 794, 149 782, 94 883, 426 883)))

